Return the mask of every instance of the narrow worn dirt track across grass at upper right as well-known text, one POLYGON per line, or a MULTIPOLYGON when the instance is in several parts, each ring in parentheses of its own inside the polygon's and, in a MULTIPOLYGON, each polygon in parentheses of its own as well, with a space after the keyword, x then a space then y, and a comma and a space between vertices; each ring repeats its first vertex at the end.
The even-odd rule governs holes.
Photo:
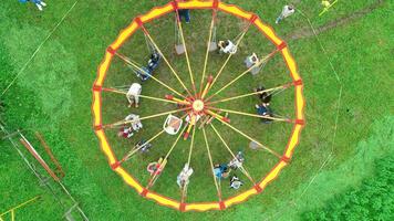
MULTIPOLYGON (((320 34, 322 32, 332 30, 336 27, 341 27, 341 25, 346 25, 352 23, 353 21, 355 21, 359 18, 362 18, 364 15, 366 15, 367 13, 372 12, 373 10, 382 7, 384 3, 384 0, 376 0, 374 3, 372 3, 369 7, 365 7, 364 9, 361 9, 359 11, 355 11, 354 13, 346 15, 346 17, 342 17, 340 19, 336 19, 330 23, 326 23, 324 25, 318 27, 315 29, 317 34, 320 34)), ((303 27, 301 29, 298 29, 296 31, 293 31, 292 33, 288 34, 286 39, 291 39, 291 40, 298 40, 298 39, 305 39, 305 38, 310 38, 313 36, 314 33, 311 30, 310 27, 303 27)))

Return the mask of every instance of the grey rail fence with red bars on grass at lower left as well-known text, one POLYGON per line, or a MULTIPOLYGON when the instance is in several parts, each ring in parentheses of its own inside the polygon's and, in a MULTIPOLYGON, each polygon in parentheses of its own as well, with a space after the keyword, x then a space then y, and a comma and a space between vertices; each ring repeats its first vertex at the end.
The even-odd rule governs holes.
MULTIPOLYGON (((89 218, 85 215, 79 202, 72 197, 66 187, 62 183, 62 178, 64 177, 64 171, 61 168, 59 161, 53 156, 50 150, 48 144, 45 143, 43 136, 35 131, 35 137, 39 139, 40 144, 44 147, 52 162, 56 166, 56 170, 53 171, 49 164, 43 159, 43 157, 37 151, 30 140, 28 140, 27 136, 22 133, 22 130, 15 130, 13 133, 9 133, 6 127, 0 124, 0 130, 4 134, 1 139, 8 139, 13 147, 13 149, 18 152, 18 155, 22 158, 28 168, 33 172, 33 175, 39 179, 40 186, 45 187, 46 190, 53 196, 56 202, 61 206, 62 209, 65 210, 63 218, 68 221, 74 221, 75 215, 84 221, 89 221, 89 218), (31 157, 25 155, 22 149, 19 147, 18 143, 14 141, 14 138, 18 138, 20 144, 28 149, 28 152, 33 156, 33 158, 39 162, 41 168, 45 170, 49 175, 42 172, 37 164, 31 161, 31 157), (52 178, 52 179, 51 179, 52 178), (72 204, 70 204, 70 202, 72 204)), ((12 214, 12 213, 11 213, 12 214)), ((1 215, 0 215, 1 218, 1 215)), ((0 219, 1 220, 1 219, 0 219)))

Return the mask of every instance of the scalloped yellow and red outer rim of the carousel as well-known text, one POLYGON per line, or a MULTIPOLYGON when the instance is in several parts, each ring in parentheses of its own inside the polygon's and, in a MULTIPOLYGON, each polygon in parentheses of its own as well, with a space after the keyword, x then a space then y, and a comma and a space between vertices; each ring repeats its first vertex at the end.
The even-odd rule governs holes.
MULTIPOLYGON (((199 1, 199 0, 191 0, 187 2, 178 2, 178 8, 179 9, 212 9, 215 6, 215 1, 199 1)), ((255 14, 250 12, 246 12, 242 9, 238 8, 237 6, 234 4, 226 4, 222 2, 218 2, 218 10, 230 13, 234 15, 237 15, 241 19, 245 20, 251 20, 255 14)), ((157 7, 151 10, 148 13, 141 15, 139 19, 143 23, 146 23, 151 20, 157 19, 164 14, 174 12, 174 4, 172 2, 163 6, 163 7, 157 7)), ((263 23, 259 18, 253 20, 252 22, 258 30, 265 34, 274 45, 279 46, 282 43, 284 43, 281 39, 279 39, 276 33, 273 32, 272 28, 263 23)), ((126 29, 124 29, 117 39, 110 45, 110 48, 114 51, 120 49, 122 44, 138 29, 138 23, 136 21, 133 21, 126 29)), ((293 82, 298 82, 294 84, 294 91, 296 91, 296 116, 297 116, 297 122, 294 124, 291 137, 288 141, 288 145, 286 147, 283 157, 279 162, 271 169, 271 171, 262 178, 260 182, 257 183, 253 188, 241 192, 240 194, 226 199, 222 202, 203 202, 203 203, 186 203, 182 204, 179 201, 176 201, 174 199, 160 196, 158 193, 147 191, 145 192, 144 187, 142 187, 137 180, 129 175, 127 171, 125 171, 122 166, 116 167, 114 169, 115 172, 117 172, 124 181, 134 188, 138 193, 144 193, 147 199, 152 199, 156 201, 159 204, 174 208, 177 210, 182 211, 208 211, 208 210, 220 210, 228 208, 232 204, 243 202, 247 200, 249 197, 257 194, 263 190, 268 183, 270 183, 273 179, 276 179, 279 176, 279 172, 288 165, 289 159, 291 159, 293 150, 296 146, 299 143, 300 139, 300 134, 301 130, 304 126, 304 97, 303 97, 303 85, 302 85, 302 80, 298 73, 297 70, 297 64, 293 57, 291 56, 289 50, 287 46, 281 50, 282 56, 284 62, 288 65, 288 69, 290 71, 290 75, 293 80, 293 82)), ((93 125, 95 129, 95 134, 100 140, 102 151, 105 154, 105 156, 108 159, 110 165, 114 165, 117 162, 116 156, 112 151, 112 148, 106 139, 104 129, 102 128, 102 98, 101 98, 101 87, 103 86, 107 70, 111 65, 111 61, 113 59, 113 53, 111 53, 110 50, 105 53, 105 57, 102 61, 102 63, 98 66, 97 70, 97 77, 94 82, 93 85, 93 102, 92 102, 92 114, 93 114, 93 125)))

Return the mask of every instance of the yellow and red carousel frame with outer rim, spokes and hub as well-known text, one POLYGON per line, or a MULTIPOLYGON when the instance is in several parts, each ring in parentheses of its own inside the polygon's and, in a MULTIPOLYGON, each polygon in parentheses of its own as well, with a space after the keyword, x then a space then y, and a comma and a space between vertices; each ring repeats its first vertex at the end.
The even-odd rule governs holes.
MULTIPOLYGON (((177 18, 177 17, 176 17, 177 18)), ((127 63, 127 61, 125 61, 127 63)), ((93 125, 94 125, 94 130, 97 136, 97 138, 101 141, 101 148, 104 152, 104 155, 108 159, 108 164, 111 168, 118 173, 123 180, 132 188, 134 188, 141 196, 154 200, 160 206, 166 206, 169 208, 174 208, 180 211, 207 211, 207 210, 224 210, 230 206, 241 203, 248 198, 250 198, 253 194, 260 193, 270 183, 272 180, 274 180, 280 171, 289 165, 290 159, 292 157, 293 150, 296 146, 299 143, 299 138, 301 135, 301 130, 304 126, 305 119, 303 116, 303 108, 304 108, 304 98, 303 98, 303 82, 298 73, 297 70, 297 64, 293 57, 291 56, 289 49, 287 46, 287 43, 279 39, 273 30, 263 23, 256 14, 251 12, 243 11, 242 9, 238 8, 237 6, 232 4, 226 4, 222 3, 218 0, 211 0, 211 1, 199 1, 199 0, 191 0, 191 1, 172 1, 163 7, 156 7, 152 11, 149 11, 146 14, 137 17, 133 22, 124 29, 118 38, 107 48, 105 57, 103 59, 102 63, 100 64, 98 72, 97 72, 97 77, 94 82, 93 85, 93 104, 92 104, 92 113, 94 116, 93 125), (211 10, 212 11, 212 21, 211 25, 209 29, 209 38, 207 41, 207 49, 206 49, 206 55, 205 55, 205 64, 204 64, 204 71, 203 71, 203 76, 201 76, 201 83, 199 85, 199 91, 197 91, 196 82, 194 78, 194 75, 191 73, 191 67, 190 67, 190 62, 188 57, 188 51, 187 46, 185 43, 185 36, 183 34, 183 27, 182 22, 176 19, 176 38, 178 38, 177 43, 182 45, 182 50, 176 52, 177 54, 184 54, 186 56, 186 62, 187 62, 187 67, 189 71, 189 77, 190 77, 190 83, 191 85, 186 86, 184 81, 179 77, 168 59, 166 57, 165 54, 163 54, 163 51, 157 46, 155 43, 153 36, 151 33, 147 31, 145 25, 148 24, 152 20, 158 19, 165 14, 169 13, 178 13, 178 10, 184 10, 184 9, 190 9, 190 10, 211 10), (226 65, 229 63, 231 56, 234 54, 228 54, 227 59, 224 63, 224 65, 219 69, 218 73, 214 75, 215 77, 206 77, 207 74, 207 63, 209 61, 209 52, 212 51, 212 42, 216 44, 216 19, 217 19, 217 13, 222 12, 222 13, 228 13, 231 15, 236 15, 242 21, 246 22, 247 25, 241 30, 241 32, 234 39, 235 46, 239 46, 243 36, 246 35, 247 31, 249 30, 250 27, 256 27, 259 32, 262 33, 265 38, 267 38, 273 45, 273 51, 268 54, 268 55, 262 55, 259 59, 259 62, 256 64, 251 65, 249 69, 247 69, 245 72, 241 74, 237 75, 232 81, 229 83, 225 84, 220 90, 212 92, 214 85, 217 83, 217 81, 220 78, 220 75, 222 74, 226 65), (123 167, 123 164, 126 162, 127 160, 132 159, 132 157, 137 152, 138 148, 135 148, 133 151, 127 152, 125 156, 121 156, 118 159, 118 156, 116 156, 112 149, 112 144, 108 141, 106 137, 106 130, 111 129, 114 124, 104 124, 103 123, 103 117, 102 117, 102 93, 103 92, 110 92, 110 93, 117 93, 117 94, 124 94, 126 93, 125 91, 122 90, 115 90, 113 87, 106 88, 104 87, 104 80, 107 75, 108 69, 112 64, 112 61, 116 57, 120 57, 123 60, 120 53, 117 52, 122 45, 131 39, 131 36, 137 31, 141 30, 144 32, 144 35, 149 40, 149 43, 155 48, 157 53, 160 55, 163 61, 167 64, 169 67, 172 75, 182 85, 180 90, 174 88, 170 85, 164 83, 163 81, 158 80, 155 76, 152 76, 152 80, 156 81, 157 83, 160 84, 160 86, 167 88, 173 93, 173 95, 163 95, 165 99, 159 98, 159 97, 152 97, 152 96, 146 96, 142 95, 142 98, 146 99, 154 99, 158 102, 165 102, 165 103, 172 103, 174 104, 174 107, 176 108, 175 110, 170 112, 165 112, 165 113, 159 113, 159 114, 154 114, 151 116, 142 116, 141 120, 145 119, 152 119, 160 116, 168 116, 169 114, 172 116, 168 116, 167 119, 165 120, 163 130, 158 131, 155 136, 153 136, 147 143, 152 143, 155 140, 157 137, 165 135, 168 133, 166 130, 167 126, 169 124, 169 120, 173 118, 173 116, 176 116, 178 113, 183 113, 183 117, 177 117, 177 120, 183 120, 186 116, 189 116, 190 119, 194 118, 194 123, 197 122, 198 116, 201 116, 201 123, 204 123, 204 126, 201 126, 203 135, 204 135, 204 141, 205 146, 208 152, 208 158, 210 161, 210 167, 212 168, 212 178, 214 178, 214 183, 217 190, 217 196, 218 196, 218 201, 214 202, 187 202, 187 187, 188 185, 184 185, 182 188, 182 198, 180 200, 175 200, 168 197, 165 197, 163 194, 156 193, 151 190, 153 185, 157 182, 158 180, 158 173, 154 173, 153 177, 149 179, 148 183, 146 186, 143 186, 138 182, 137 179, 135 179, 127 170, 125 167, 123 167), (273 55, 276 54, 281 54, 284 63, 287 64, 288 71, 290 73, 291 82, 283 83, 282 85, 265 90, 262 92, 253 92, 253 93, 247 93, 242 95, 237 95, 232 97, 227 97, 227 98, 218 98, 218 94, 224 94, 222 92, 229 88, 231 85, 234 85, 236 82, 238 82, 241 77, 246 76, 248 73, 251 72, 252 69, 259 67, 261 65, 265 65, 273 55), (237 112, 232 109, 224 109, 220 107, 217 107, 218 104, 226 103, 226 102, 231 102, 235 99, 240 99, 243 97, 249 97, 249 96, 256 96, 258 94, 262 93, 272 93, 277 94, 281 92, 282 90, 287 90, 293 87, 294 88, 294 106, 296 106, 296 113, 294 117, 288 118, 288 117, 280 117, 280 116, 260 116, 256 114, 249 114, 245 112, 237 112), (185 93, 182 93, 185 91, 185 93), (293 128, 289 138, 288 144, 284 147, 284 150, 282 154, 269 148, 268 146, 263 145, 262 143, 258 141, 256 138, 249 136, 247 133, 242 131, 241 129, 237 128, 228 118, 228 116, 222 116, 220 113, 230 113, 231 115, 241 115, 246 117, 256 117, 256 118, 267 118, 273 122, 278 123, 288 123, 292 124, 293 128), (217 180, 214 173, 214 164, 212 164, 212 156, 210 154, 210 147, 209 147, 209 141, 206 135, 206 128, 210 127, 214 130, 214 134, 219 138, 219 140, 222 143, 222 146, 226 147, 228 152, 231 155, 232 158, 236 158, 236 155, 231 151, 230 145, 228 141, 225 139, 225 137, 221 135, 219 131, 218 127, 215 126, 215 123, 212 120, 221 123, 225 127, 228 127, 231 129, 235 134, 242 138, 247 138, 250 141, 253 141, 253 144, 257 145, 259 149, 262 149, 267 151, 268 154, 274 156, 278 159, 278 162, 273 168, 266 175, 263 176, 259 181, 252 178, 248 170, 242 166, 240 166, 239 170, 249 179, 251 182, 251 188, 228 199, 224 199, 221 194, 221 187, 220 182, 217 180), (209 124, 208 124, 209 123, 209 124)), ((190 120, 193 122, 193 120, 190 120)), ((125 122, 118 122, 115 124, 124 124, 125 122)), ((175 146, 179 141, 180 137, 185 135, 184 133, 186 131, 187 136, 190 135, 191 139, 190 141, 190 150, 188 155, 188 160, 187 164, 190 165, 190 158, 193 154, 193 149, 195 146, 195 134, 196 134, 196 127, 197 124, 187 124, 186 126, 179 125, 179 128, 176 130, 170 130, 168 134, 177 134, 177 138, 174 141, 174 144, 170 146, 169 150, 167 151, 166 156, 163 158, 163 161, 166 161, 168 159, 168 156, 173 152, 175 146), (190 126, 191 125, 191 126, 190 126), (175 133, 176 131, 176 133, 175 133), (180 131, 180 133, 179 133, 180 131)), ((169 164, 169 162, 168 162, 169 164)), ((159 171, 163 171, 165 169, 165 166, 168 164, 160 165, 159 168, 157 168, 159 171)), ((182 166, 180 166, 182 167, 182 166)), ((162 173, 162 172, 160 172, 162 173)), ((190 180, 193 182, 193 180, 190 180)))

